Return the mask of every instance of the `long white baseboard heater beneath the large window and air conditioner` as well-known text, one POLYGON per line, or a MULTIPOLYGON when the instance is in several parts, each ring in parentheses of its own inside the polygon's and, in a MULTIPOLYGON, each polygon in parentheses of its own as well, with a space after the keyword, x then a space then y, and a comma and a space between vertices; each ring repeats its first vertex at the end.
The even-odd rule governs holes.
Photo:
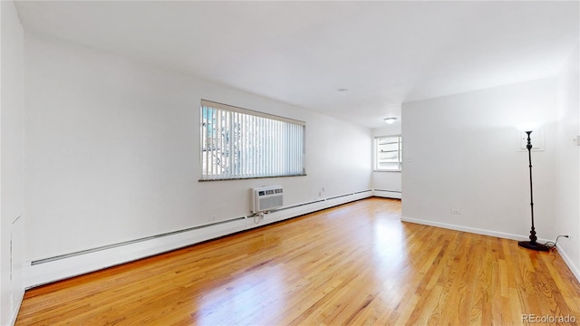
POLYGON ((114 265, 129 263, 155 254, 169 252, 188 245, 195 245, 220 236, 231 235, 257 226, 275 223, 295 216, 302 216, 317 210, 339 206, 366 197, 372 197, 372 190, 331 198, 321 198, 310 203, 282 208, 266 214, 262 219, 258 219, 257 224, 255 218, 252 216, 237 217, 229 222, 194 227, 183 232, 179 231, 168 235, 152 236, 142 241, 138 239, 119 245, 86 250, 76 254, 67 254, 51 259, 26 262, 24 268, 24 285, 26 289, 33 288, 45 283, 52 283, 83 273, 91 273, 114 265))

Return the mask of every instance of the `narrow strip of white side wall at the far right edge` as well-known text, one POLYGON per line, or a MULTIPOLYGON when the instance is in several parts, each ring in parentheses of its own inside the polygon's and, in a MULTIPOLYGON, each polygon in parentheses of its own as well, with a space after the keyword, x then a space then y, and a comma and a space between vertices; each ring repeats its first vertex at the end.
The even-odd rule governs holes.
POLYGON ((556 128, 556 234, 558 249, 580 279, 580 100, 576 47, 558 76, 556 128))

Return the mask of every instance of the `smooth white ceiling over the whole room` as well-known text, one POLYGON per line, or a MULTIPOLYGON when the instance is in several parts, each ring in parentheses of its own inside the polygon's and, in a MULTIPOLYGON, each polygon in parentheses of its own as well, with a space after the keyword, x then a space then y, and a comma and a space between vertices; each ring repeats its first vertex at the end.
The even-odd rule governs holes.
POLYGON ((578 2, 20 1, 17 10, 28 31, 371 128, 400 116, 401 102, 555 75, 579 39, 578 2))

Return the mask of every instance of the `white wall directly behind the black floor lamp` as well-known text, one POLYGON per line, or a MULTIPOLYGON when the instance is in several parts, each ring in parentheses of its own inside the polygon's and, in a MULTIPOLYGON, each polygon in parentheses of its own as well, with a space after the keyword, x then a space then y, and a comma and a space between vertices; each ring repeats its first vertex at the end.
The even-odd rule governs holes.
POLYGON ((545 134, 545 150, 532 153, 536 231, 554 239, 555 111, 555 78, 403 103, 403 219, 526 240, 527 151, 516 126, 536 120, 545 134))

